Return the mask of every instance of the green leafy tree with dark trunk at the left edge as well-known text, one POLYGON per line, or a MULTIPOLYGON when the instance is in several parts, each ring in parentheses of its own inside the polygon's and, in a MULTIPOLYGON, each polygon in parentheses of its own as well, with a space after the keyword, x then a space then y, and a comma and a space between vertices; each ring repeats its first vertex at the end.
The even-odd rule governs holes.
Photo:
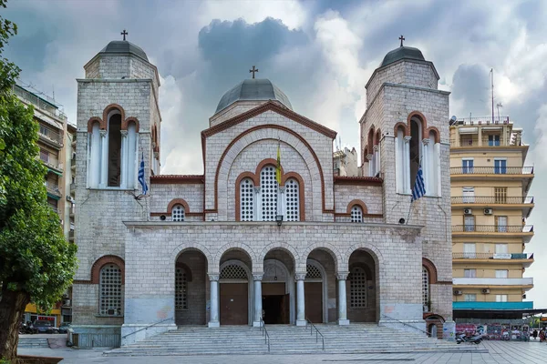
POLYGON ((0 359, 8 361, 16 356, 26 305, 52 307, 77 267, 76 246, 64 238, 59 217, 47 205, 33 108, 12 93, 20 70, 2 57, 16 31, 0 16, 0 359))

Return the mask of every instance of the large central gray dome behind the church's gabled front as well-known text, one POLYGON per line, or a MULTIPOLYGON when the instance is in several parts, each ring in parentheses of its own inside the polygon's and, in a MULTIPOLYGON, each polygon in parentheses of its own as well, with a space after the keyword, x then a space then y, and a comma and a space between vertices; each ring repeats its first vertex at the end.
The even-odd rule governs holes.
POLYGON ((224 108, 231 106, 236 101, 262 101, 277 100, 291 110, 291 102, 279 87, 275 86, 269 79, 251 78, 233 86, 222 96, 215 114, 224 108))

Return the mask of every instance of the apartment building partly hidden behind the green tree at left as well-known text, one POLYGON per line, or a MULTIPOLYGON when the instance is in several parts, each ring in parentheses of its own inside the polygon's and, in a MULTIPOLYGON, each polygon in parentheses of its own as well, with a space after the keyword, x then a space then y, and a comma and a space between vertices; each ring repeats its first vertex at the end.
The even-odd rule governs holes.
MULTIPOLYGON (((34 117, 39 124, 39 158, 47 167, 44 184, 47 203, 59 215, 65 238, 74 242, 74 177, 76 172, 76 126, 67 122, 67 116, 47 96, 14 86, 15 95, 25 104, 34 106, 34 117)), ((26 307, 26 320, 48 319, 56 326, 70 321, 70 300, 59 302, 48 314, 40 312, 35 305, 26 307)))

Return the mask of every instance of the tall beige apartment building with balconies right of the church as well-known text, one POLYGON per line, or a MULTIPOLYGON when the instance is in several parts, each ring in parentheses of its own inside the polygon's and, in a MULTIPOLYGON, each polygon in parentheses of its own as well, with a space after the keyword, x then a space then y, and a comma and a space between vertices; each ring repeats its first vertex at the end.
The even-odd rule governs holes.
POLYGON ((521 319, 533 287, 523 278, 533 263, 526 224, 534 206, 528 146, 509 117, 452 120, 453 309, 455 319, 521 319))

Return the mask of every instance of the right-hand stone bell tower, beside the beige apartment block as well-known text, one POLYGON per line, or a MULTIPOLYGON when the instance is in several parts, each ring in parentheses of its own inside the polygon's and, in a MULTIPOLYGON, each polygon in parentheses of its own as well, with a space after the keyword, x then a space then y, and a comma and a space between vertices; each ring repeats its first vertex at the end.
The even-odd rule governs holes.
POLYGON ((399 39, 366 84, 363 174, 384 180, 386 223, 424 226, 416 248, 424 258, 419 263, 431 270, 428 309, 446 319, 452 315, 449 92, 438 89, 433 63, 399 39), (426 194, 411 203, 418 169, 426 194))

